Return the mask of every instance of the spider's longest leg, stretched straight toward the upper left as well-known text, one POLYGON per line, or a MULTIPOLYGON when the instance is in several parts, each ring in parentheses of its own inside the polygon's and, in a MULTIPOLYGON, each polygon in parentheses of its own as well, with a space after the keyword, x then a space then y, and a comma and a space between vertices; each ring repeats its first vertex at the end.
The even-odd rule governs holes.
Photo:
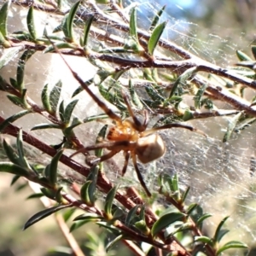
MULTIPOLYGON (((49 38, 48 38, 49 39, 49 38)), ((53 44, 50 39, 49 42, 53 45, 53 47, 55 48, 55 52, 58 53, 61 56, 61 59, 65 62, 66 66, 68 67, 68 69, 70 70, 70 72, 73 74, 74 79, 76 79, 80 86, 86 90, 86 92, 90 95, 90 97, 96 102, 96 104, 102 108, 102 110, 108 114, 109 118, 117 121, 117 122, 121 122, 122 119, 119 117, 119 115, 117 115, 116 113, 114 113, 110 108, 108 108, 108 106, 102 102, 89 88, 89 86, 87 84, 84 83, 83 79, 81 79, 79 77, 79 74, 74 72, 73 69, 69 66, 69 64, 67 63, 67 61, 64 59, 63 55, 61 54, 61 51, 55 46, 55 44, 53 44)))

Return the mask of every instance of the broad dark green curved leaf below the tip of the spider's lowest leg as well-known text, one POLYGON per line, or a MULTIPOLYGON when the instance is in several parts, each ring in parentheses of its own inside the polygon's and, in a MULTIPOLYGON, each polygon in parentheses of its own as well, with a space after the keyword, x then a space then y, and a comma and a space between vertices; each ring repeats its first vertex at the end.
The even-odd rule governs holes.
POLYGON ((186 217, 187 215, 182 212, 170 212, 161 216, 153 225, 151 229, 152 236, 155 236, 160 230, 165 229, 170 224, 180 220, 181 218, 186 217))

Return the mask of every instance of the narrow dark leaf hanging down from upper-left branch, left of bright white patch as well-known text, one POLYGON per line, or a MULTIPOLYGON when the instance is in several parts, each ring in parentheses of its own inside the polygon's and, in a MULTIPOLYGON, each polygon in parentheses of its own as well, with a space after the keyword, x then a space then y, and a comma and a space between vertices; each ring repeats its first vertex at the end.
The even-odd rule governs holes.
POLYGON ((16 80, 17 80, 16 89, 20 90, 20 92, 24 88, 24 74, 25 74, 26 61, 28 61, 35 52, 36 50, 34 49, 26 49, 18 61, 17 74, 16 74, 16 80))

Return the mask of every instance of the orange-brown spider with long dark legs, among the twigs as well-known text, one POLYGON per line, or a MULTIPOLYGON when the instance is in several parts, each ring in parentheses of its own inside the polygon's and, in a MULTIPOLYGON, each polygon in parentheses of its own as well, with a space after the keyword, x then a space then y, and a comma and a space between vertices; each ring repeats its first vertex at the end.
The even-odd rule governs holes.
MULTIPOLYGON (((55 47, 55 51, 60 53, 55 47)), ((156 160, 163 156, 166 153, 166 145, 163 142, 162 138, 156 131, 170 129, 173 127, 188 129, 189 131, 196 131, 206 136, 202 131, 195 129, 189 125, 182 124, 168 124, 162 125, 160 127, 154 127, 147 130, 148 127, 148 113, 144 112, 144 120, 141 122, 137 119, 137 116, 131 109, 131 105, 128 101, 127 96, 123 94, 124 102, 127 106, 128 112, 131 116, 131 119, 121 119, 118 114, 114 113, 108 106, 102 102, 84 83, 84 81, 79 77, 78 73, 75 73, 73 69, 68 65, 67 61, 61 55, 63 61, 65 61, 70 72, 73 73, 74 79, 76 79, 79 84, 86 90, 90 97, 96 102, 96 104, 102 108, 102 110, 108 115, 110 119, 113 119, 114 126, 111 127, 108 131, 107 141, 103 143, 96 143, 95 145, 81 148, 72 154, 70 157, 73 157, 75 154, 88 152, 90 150, 106 148, 109 150, 107 154, 103 154, 101 157, 96 160, 92 160, 90 163, 96 165, 99 162, 108 160, 113 157, 113 155, 118 154, 120 151, 123 151, 125 154, 125 164, 122 169, 122 175, 125 175, 128 162, 131 158, 135 171, 137 172, 137 178, 141 183, 143 189, 145 190, 148 197, 151 196, 146 183, 143 180, 143 176, 137 166, 137 159, 140 160, 143 164, 147 164, 153 160, 156 160)))

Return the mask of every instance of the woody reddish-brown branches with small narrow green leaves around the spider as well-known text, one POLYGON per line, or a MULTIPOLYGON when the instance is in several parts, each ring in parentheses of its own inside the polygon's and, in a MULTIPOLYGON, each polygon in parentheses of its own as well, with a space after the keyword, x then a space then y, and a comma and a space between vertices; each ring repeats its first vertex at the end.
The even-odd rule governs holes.
MULTIPOLYGON (((105 101, 111 102, 125 118, 130 113, 122 96, 122 91, 125 91, 131 98, 132 108, 137 108, 137 113, 150 109, 152 114, 161 115, 155 122, 155 127, 189 119, 233 115, 224 135, 223 140, 226 142, 234 131, 241 131, 255 121, 255 99, 251 102, 244 101, 243 90, 246 87, 255 89, 253 79, 256 61, 237 50, 236 54, 240 60, 237 67, 222 68, 201 60, 186 49, 161 38, 167 20, 159 23, 158 15, 162 14, 164 8, 160 9, 152 20, 149 32, 145 32, 138 28, 137 9, 132 8, 128 16, 120 1, 105 3, 108 8, 103 6, 102 9, 101 4, 90 0, 85 3, 77 2, 68 12, 62 9, 61 1, 49 5, 34 3, 33 6, 28 2, 16 1, 13 4, 27 8, 27 31, 9 33, 9 4, 10 2, 4 3, 0 10, 0 44, 4 48, 0 68, 8 65, 18 53, 22 55, 17 65, 16 77, 9 81, 1 78, 0 90, 8 92, 10 102, 23 110, 8 119, 0 116, 0 130, 3 135, 16 137, 15 147, 3 140, 3 148, 9 161, 0 163, 0 172, 14 174, 15 180, 26 177, 27 180, 38 183, 42 193, 32 197, 44 195, 55 201, 52 207, 29 218, 24 229, 55 212, 71 208, 81 209, 85 213, 73 219, 70 230, 76 230, 88 223, 95 223, 107 230, 112 234, 112 240, 106 244, 102 242, 105 239, 102 235, 101 245, 106 251, 110 251, 110 254, 118 241, 124 241, 136 255, 147 255, 148 252, 143 251, 145 243, 150 245, 148 251, 162 251, 165 255, 213 256, 220 255, 230 248, 247 248, 241 241, 222 242, 228 232, 224 229, 228 218, 218 224, 213 235, 208 235, 203 230, 205 220, 212 215, 203 212, 197 203, 187 200, 189 188, 180 188, 177 174, 172 177, 160 175, 157 190, 154 189, 155 192, 149 199, 143 191, 138 192, 129 187, 129 184, 114 186, 104 175, 102 164, 82 166, 67 157, 67 148, 83 148, 74 128, 85 122, 108 118, 108 115, 103 113, 87 119, 75 117, 73 110, 78 100, 68 103, 60 101, 61 81, 55 84, 52 90, 45 84, 41 94, 43 107, 40 107, 27 95, 24 77, 26 61, 37 51, 43 51, 47 55, 55 52, 83 57, 97 68, 97 72, 93 79, 80 82, 81 86, 74 90, 73 96, 86 90, 94 99, 90 87, 95 84, 105 101), (61 15, 60 26, 57 26, 54 32, 45 29, 44 33, 40 34, 35 22, 37 9, 61 15), (112 10, 119 14, 119 20, 113 18, 112 10), (103 33, 101 28, 106 22, 113 28, 116 37, 107 32, 103 33), (56 32, 61 33, 56 36, 56 32), (119 37, 121 32, 127 33, 125 39, 119 37), (164 58, 160 54, 161 50, 165 52, 164 58), (192 105, 186 102, 188 95, 193 96, 192 105), (217 108, 216 100, 228 102, 230 109, 217 108), (63 143, 49 146, 43 139, 38 140, 11 124, 21 117, 28 117, 30 113, 41 114, 49 121, 47 124, 34 126, 32 131, 58 129, 63 133, 63 143), (51 156, 49 163, 38 167, 37 163, 28 160, 24 142, 51 156), (80 188, 73 186, 73 182, 61 174, 60 162, 84 177, 80 188), (77 197, 73 196, 71 190, 77 197), (106 200, 103 206, 100 206, 97 202, 103 195, 106 200), (160 205, 160 200, 165 203, 160 205), (154 211, 154 204, 159 204, 157 211, 154 211)), ((255 47, 252 49, 255 55, 255 47)), ((74 79, 81 80, 75 71, 71 72, 74 79)), ((100 138, 105 137, 106 129, 107 126, 102 128, 100 138)), ((96 143, 100 142, 101 139, 96 143)), ((96 157, 101 157, 102 150, 96 150, 95 154, 96 157)), ((76 211, 69 212, 69 215, 64 213, 66 221, 74 212, 76 211)), ((90 235, 87 246, 92 252, 99 247, 93 235, 90 235)), ((75 248, 73 251, 79 255, 75 248)))

